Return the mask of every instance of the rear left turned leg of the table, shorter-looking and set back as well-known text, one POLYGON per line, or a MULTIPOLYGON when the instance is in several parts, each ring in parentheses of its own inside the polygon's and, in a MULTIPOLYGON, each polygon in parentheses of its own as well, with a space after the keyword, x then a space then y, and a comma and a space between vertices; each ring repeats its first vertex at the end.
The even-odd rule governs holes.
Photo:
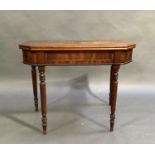
POLYGON ((38 90, 37 90, 37 71, 36 66, 31 66, 32 68, 32 86, 34 94, 34 106, 35 111, 38 111, 38 90))

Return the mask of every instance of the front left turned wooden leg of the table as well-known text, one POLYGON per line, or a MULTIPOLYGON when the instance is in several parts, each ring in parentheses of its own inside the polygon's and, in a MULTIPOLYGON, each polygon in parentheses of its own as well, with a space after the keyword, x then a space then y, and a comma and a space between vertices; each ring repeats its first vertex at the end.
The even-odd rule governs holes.
POLYGON ((46 82, 45 82, 45 66, 38 66, 40 78, 40 95, 41 95, 41 111, 42 111, 42 127, 43 134, 46 134, 47 117, 46 117, 46 82))

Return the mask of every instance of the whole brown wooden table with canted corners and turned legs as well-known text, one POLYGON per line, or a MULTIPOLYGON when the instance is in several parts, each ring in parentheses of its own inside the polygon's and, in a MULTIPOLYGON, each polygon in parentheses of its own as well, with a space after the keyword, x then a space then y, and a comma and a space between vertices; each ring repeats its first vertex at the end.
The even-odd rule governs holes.
POLYGON ((110 131, 113 131, 117 98, 118 72, 121 64, 132 61, 135 44, 125 41, 28 41, 19 45, 23 63, 32 66, 35 110, 38 111, 37 71, 39 70, 43 133, 47 129, 45 66, 111 65, 109 105, 110 131))

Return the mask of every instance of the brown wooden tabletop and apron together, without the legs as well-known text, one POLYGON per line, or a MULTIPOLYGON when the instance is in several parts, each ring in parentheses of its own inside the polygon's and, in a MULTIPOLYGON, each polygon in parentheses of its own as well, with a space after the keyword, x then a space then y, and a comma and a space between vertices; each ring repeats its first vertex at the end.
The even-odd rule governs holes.
POLYGON ((135 44, 123 41, 26 42, 23 62, 36 65, 101 65, 128 63, 135 44))

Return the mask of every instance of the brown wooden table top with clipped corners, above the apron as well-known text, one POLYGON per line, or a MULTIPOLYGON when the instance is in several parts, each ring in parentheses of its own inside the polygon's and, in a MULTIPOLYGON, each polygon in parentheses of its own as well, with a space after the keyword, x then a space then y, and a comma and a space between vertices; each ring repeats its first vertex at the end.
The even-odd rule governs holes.
POLYGON ((23 50, 128 50, 136 45, 127 41, 28 41, 19 45, 23 50))

